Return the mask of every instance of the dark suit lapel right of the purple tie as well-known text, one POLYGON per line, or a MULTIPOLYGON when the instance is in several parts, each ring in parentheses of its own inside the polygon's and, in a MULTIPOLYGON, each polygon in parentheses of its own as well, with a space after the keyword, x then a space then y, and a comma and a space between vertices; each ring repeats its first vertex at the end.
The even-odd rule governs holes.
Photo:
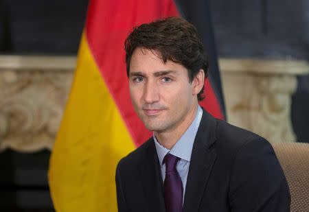
POLYGON ((212 166, 216 161, 216 154, 209 150, 216 141, 215 132, 216 119, 203 110, 203 117, 192 149, 183 212, 198 211, 212 166))

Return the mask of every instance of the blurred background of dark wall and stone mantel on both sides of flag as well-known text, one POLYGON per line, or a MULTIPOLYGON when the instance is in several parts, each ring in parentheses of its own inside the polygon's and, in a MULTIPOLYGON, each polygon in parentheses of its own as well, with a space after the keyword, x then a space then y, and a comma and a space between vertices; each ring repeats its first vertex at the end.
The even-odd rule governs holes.
MULTIPOLYGON (((87 0, 0 0, 0 211, 53 211, 50 151, 87 0)), ((309 143, 309 1, 211 0, 227 121, 309 143)))

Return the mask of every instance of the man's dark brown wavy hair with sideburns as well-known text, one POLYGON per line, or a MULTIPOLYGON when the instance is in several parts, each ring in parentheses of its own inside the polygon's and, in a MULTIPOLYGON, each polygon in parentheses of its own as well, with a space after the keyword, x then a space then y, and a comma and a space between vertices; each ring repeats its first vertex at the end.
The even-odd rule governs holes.
MULTIPOLYGON (((143 47, 159 52, 163 62, 172 60, 182 64, 192 82, 200 69, 207 77, 208 60, 196 27, 184 19, 170 17, 135 27, 124 43, 126 50, 126 72, 130 73, 130 60, 134 50, 143 47)), ((198 101, 204 99, 204 86, 198 93, 198 101)))

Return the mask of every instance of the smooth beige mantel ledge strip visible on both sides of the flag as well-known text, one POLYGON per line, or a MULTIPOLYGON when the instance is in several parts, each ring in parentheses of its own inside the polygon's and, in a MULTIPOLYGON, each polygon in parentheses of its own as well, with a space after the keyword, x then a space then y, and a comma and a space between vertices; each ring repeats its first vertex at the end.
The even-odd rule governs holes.
MULTIPOLYGON (((76 56, 0 56, 0 70, 46 70, 72 71, 76 66, 76 56)), ((258 58, 220 58, 220 70, 224 72, 271 73, 299 75, 309 73, 306 60, 261 60, 258 58)))

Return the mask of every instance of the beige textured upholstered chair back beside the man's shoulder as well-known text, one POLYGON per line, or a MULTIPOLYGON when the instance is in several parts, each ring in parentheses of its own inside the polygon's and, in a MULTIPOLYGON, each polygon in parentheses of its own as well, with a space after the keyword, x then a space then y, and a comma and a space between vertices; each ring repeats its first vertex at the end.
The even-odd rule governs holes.
POLYGON ((309 212, 309 143, 273 143, 290 187, 290 211, 309 212))

